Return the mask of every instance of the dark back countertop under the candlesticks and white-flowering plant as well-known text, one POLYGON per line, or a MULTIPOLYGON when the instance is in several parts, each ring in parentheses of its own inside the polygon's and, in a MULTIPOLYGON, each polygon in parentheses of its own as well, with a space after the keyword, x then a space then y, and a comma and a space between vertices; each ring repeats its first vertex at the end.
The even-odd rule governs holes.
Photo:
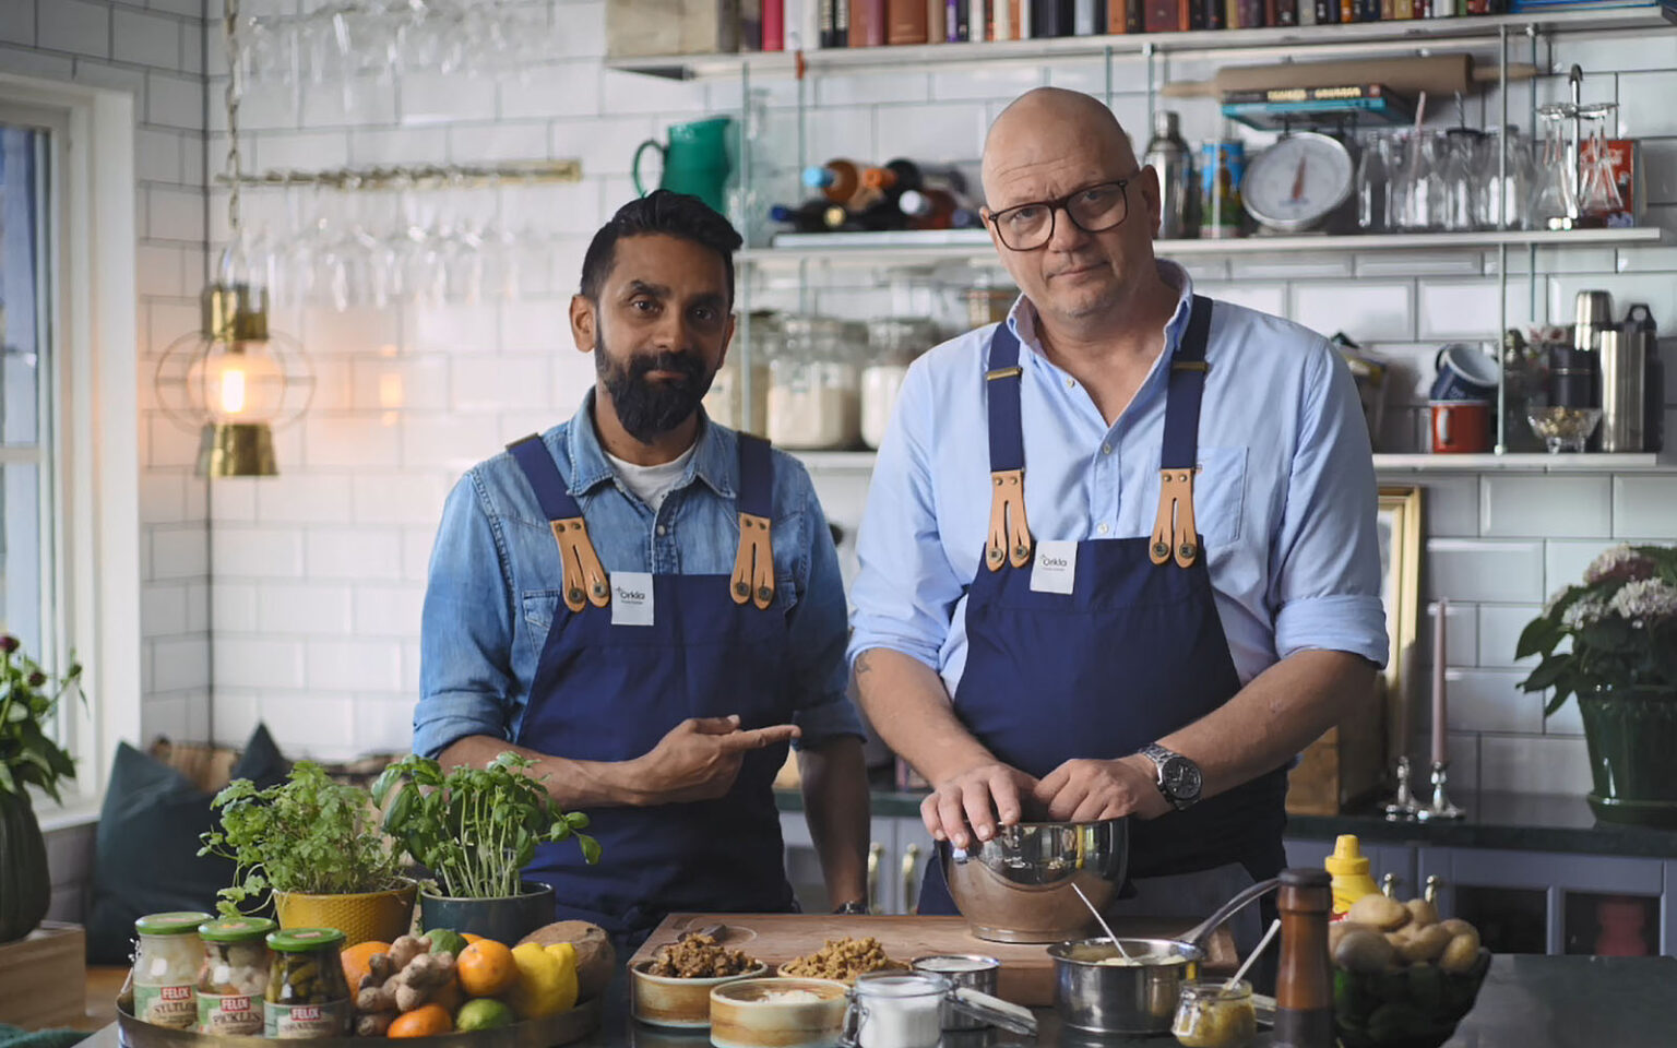
MULTIPOLYGON (((924 793, 875 790, 874 815, 917 818, 922 798, 924 793)), ((1452 798, 1467 808, 1467 818, 1390 823, 1373 813, 1291 815, 1286 835, 1333 840, 1355 833, 1365 842, 1677 859, 1677 830, 1600 823, 1583 796, 1486 791, 1452 793, 1452 798)), ((776 802, 781 812, 803 810, 803 798, 795 791, 776 793, 776 802)))

